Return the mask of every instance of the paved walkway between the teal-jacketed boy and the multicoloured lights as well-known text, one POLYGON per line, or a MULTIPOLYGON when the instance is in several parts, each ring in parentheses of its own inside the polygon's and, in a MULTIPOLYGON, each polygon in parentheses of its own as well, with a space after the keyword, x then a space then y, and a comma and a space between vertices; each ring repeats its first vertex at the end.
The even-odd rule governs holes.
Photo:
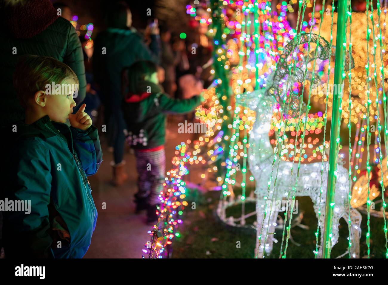
MULTIPOLYGON (((178 122, 177 119, 170 121, 167 128, 166 170, 171 168, 175 146, 192 136, 178 134, 178 122)), ((113 187, 109 184, 112 177, 109 162, 113 154, 108 152, 105 138, 100 139, 104 161, 97 174, 89 177, 98 218, 92 244, 84 258, 141 258, 144 244, 150 238, 147 231, 151 226, 145 224, 145 212, 134 213, 133 195, 137 192, 135 155, 126 150, 124 159, 129 180, 121 187, 113 187), (103 202, 106 202, 106 209, 102 209, 103 202)))

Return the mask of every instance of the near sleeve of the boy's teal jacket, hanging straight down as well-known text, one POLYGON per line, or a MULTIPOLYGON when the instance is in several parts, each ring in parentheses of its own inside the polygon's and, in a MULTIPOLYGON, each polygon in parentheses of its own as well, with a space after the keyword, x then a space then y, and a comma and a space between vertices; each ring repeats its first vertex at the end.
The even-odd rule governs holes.
POLYGON ((49 209, 51 166, 49 151, 36 139, 28 139, 15 149, 12 188, 8 200, 24 201, 26 211, 5 211, 9 247, 7 255, 54 257, 50 248, 49 209), (29 209, 26 209, 26 203, 29 209))

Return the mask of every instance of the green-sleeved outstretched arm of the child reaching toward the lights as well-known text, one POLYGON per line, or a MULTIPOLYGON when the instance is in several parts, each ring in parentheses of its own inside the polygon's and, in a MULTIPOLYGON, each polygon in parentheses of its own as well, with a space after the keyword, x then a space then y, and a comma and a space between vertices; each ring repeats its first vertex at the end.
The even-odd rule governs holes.
POLYGON ((159 105, 163 112, 184 114, 192 111, 195 107, 199 106, 203 102, 203 95, 193 96, 189 99, 173 99, 166 94, 162 94, 159 97, 159 105))

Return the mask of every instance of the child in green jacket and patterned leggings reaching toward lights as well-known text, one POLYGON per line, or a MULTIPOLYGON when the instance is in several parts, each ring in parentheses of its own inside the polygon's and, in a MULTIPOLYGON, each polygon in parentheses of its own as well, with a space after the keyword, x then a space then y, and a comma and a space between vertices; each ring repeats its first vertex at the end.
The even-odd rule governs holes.
MULTIPOLYGON (((165 181, 166 114, 184 114, 204 102, 203 93, 189 99, 172 99, 158 85, 157 66, 140 60, 125 68, 123 113, 126 142, 135 150, 139 191, 136 211, 147 209, 147 223, 157 220, 156 205, 165 181)), ((200 90, 198 90, 200 92, 200 90)), ((198 92, 198 93, 199 93, 198 92)))

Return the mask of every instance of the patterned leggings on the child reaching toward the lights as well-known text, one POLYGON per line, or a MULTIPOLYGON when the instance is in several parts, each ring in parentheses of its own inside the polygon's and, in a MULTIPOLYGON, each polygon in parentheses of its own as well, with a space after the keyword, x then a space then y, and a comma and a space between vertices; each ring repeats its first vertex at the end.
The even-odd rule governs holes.
POLYGON ((158 195, 163 191, 163 183, 166 174, 165 150, 152 152, 139 152, 135 150, 137 168, 137 187, 139 191, 135 194, 137 199, 147 197, 147 204, 156 205, 160 203, 158 195))

